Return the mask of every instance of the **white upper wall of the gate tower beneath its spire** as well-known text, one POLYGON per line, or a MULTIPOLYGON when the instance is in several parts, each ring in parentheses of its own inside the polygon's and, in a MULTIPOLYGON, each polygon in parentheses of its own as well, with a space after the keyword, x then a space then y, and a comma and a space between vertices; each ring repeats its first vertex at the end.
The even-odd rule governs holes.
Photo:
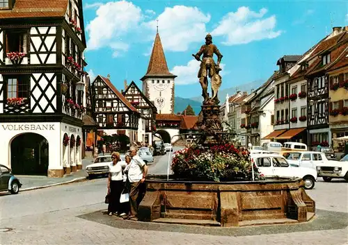
POLYGON ((174 113, 174 78, 145 78, 143 91, 154 102, 159 114, 174 113))

